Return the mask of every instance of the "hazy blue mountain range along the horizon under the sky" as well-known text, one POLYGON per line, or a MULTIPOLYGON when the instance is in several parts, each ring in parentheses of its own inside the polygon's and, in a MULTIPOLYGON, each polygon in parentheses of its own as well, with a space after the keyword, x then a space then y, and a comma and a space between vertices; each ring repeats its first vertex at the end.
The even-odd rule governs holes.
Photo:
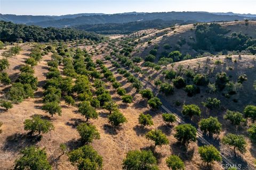
POLYGON ((41 27, 73 27, 82 24, 127 23, 135 21, 151 21, 161 19, 163 21, 183 20, 197 22, 234 21, 244 19, 256 20, 254 14, 235 13, 209 13, 209 12, 155 12, 155 13, 81 13, 61 16, 50 15, 12 15, 0 14, 0 20, 23 23, 27 25, 39 25, 41 27))

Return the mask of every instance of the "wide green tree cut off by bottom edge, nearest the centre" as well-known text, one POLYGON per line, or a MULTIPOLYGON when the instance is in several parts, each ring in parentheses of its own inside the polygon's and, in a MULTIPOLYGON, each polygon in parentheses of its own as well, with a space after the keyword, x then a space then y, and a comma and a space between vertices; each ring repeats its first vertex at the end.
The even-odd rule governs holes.
POLYGON ((123 160, 124 170, 158 170, 157 160, 149 150, 130 150, 123 160))

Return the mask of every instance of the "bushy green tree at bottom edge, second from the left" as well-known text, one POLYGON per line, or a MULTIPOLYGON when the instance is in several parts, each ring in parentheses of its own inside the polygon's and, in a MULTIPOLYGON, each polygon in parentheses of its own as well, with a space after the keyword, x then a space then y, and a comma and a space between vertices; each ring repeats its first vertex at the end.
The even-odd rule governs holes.
POLYGON ((90 145, 84 145, 68 153, 69 161, 78 170, 101 170, 102 157, 90 145))

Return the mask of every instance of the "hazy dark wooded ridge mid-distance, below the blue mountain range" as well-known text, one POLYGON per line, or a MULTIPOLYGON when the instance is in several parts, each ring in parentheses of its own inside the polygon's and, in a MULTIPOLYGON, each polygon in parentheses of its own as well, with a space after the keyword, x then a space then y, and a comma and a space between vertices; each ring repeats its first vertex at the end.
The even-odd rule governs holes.
POLYGON ((134 31, 144 30, 144 29, 163 29, 166 27, 172 27, 175 24, 188 24, 195 23, 196 21, 183 21, 183 20, 172 20, 164 21, 161 19, 151 20, 151 21, 134 21, 127 23, 105 23, 105 24, 82 24, 76 25, 74 28, 84 31, 92 31, 95 33, 108 35, 108 34, 127 34, 134 31))

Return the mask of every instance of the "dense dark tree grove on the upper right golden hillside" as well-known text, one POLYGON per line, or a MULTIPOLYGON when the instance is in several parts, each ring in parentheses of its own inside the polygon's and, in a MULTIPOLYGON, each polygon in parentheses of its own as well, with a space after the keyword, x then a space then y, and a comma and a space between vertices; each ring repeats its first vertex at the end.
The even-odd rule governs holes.
MULTIPOLYGON (((246 23, 245 23, 246 24, 246 23)), ((198 24, 195 30, 196 44, 194 48, 209 50, 210 52, 220 52, 221 50, 248 50, 256 54, 256 39, 244 35, 241 32, 231 32, 222 28, 220 24, 198 24)))

